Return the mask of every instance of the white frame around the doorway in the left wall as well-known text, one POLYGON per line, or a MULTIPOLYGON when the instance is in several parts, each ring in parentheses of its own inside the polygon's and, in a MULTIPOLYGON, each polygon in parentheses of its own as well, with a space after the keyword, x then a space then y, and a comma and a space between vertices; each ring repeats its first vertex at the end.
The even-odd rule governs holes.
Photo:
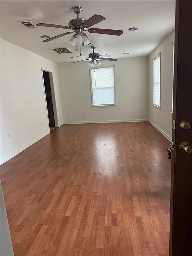
MULTIPOLYGON (((54 113, 54 120, 55 120, 55 127, 59 127, 58 123, 58 114, 57 114, 57 105, 55 100, 55 88, 53 83, 53 72, 49 70, 48 68, 41 67, 41 74, 42 74, 42 80, 43 80, 43 90, 44 90, 44 96, 45 96, 45 104, 46 104, 46 110, 47 110, 47 122, 49 126, 49 116, 48 116, 48 108, 47 108, 47 100, 46 100, 46 93, 45 93, 45 84, 44 84, 44 78, 43 78, 43 71, 49 73, 49 79, 50 79, 50 86, 51 86, 51 96, 53 101, 53 113, 54 113)), ((50 127, 49 127, 50 132, 50 127)))

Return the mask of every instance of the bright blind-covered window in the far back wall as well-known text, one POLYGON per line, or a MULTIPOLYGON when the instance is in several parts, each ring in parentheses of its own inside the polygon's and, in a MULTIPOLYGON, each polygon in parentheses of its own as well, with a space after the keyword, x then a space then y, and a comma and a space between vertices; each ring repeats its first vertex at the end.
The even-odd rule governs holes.
POLYGON ((90 68, 92 105, 115 105, 115 83, 113 67, 90 68))

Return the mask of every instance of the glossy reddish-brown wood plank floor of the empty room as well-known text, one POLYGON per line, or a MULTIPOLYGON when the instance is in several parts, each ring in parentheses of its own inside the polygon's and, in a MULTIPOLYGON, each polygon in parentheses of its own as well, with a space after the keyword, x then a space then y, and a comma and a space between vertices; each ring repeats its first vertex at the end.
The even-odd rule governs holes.
POLYGON ((15 255, 168 256, 169 145, 148 122, 63 125, 1 165, 15 255))

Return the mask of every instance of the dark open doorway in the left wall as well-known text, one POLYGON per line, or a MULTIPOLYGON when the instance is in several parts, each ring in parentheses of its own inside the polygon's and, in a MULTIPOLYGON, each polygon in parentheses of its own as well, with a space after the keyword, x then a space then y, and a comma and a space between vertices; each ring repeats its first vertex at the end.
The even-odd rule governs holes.
POLYGON ((54 117, 54 109, 53 109, 53 97, 51 92, 51 82, 49 72, 43 70, 43 81, 45 86, 45 96, 47 103, 47 112, 48 112, 48 120, 49 120, 49 129, 50 132, 55 129, 55 117, 54 117))

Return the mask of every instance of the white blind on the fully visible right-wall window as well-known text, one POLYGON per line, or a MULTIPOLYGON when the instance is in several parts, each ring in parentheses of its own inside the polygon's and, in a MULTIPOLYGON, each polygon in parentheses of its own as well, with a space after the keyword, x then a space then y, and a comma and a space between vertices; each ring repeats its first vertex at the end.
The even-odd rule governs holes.
POLYGON ((160 107, 160 55, 153 60, 153 104, 160 107))

